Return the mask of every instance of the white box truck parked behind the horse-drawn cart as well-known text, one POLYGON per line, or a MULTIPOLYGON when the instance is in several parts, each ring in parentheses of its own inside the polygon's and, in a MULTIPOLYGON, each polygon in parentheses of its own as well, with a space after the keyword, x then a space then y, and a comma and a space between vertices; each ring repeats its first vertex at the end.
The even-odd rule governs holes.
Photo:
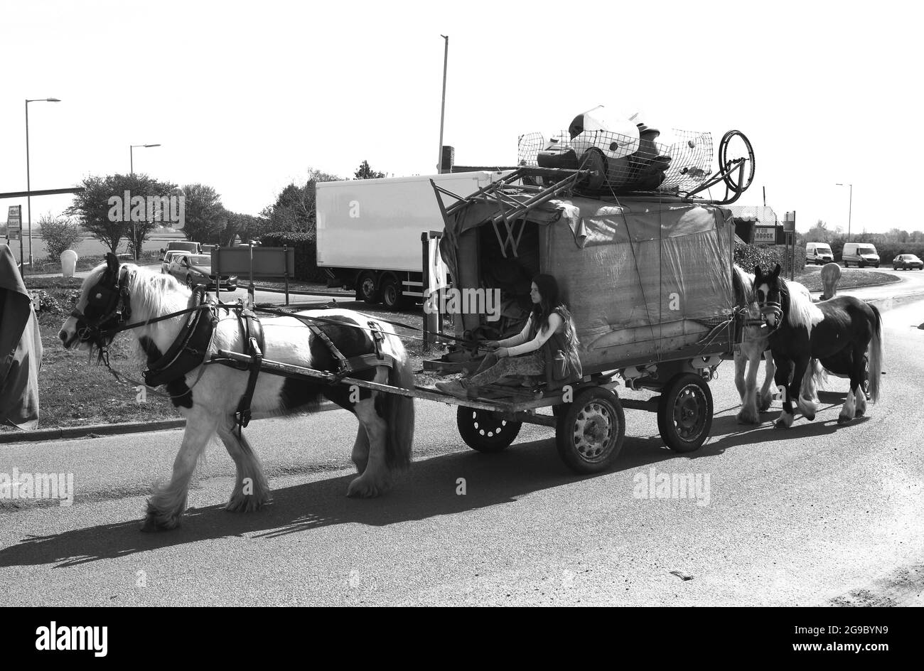
MULTIPOLYGON (((422 300, 420 234, 443 230, 443 215, 430 180, 459 196, 507 172, 468 172, 419 177, 318 182, 318 267, 329 285, 356 290, 357 300, 388 308, 422 300)), ((456 202, 442 196, 445 206, 456 202)))

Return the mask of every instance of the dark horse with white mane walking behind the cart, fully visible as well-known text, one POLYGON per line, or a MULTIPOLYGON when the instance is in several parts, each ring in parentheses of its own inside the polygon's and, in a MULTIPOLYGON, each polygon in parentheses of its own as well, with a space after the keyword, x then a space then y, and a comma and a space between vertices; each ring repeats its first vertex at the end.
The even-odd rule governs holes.
POLYGON ((880 397, 882 320, 876 307, 852 296, 813 303, 790 290, 780 277, 779 263, 771 273, 764 274, 760 266, 755 267, 754 273, 760 310, 772 330, 769 344, 776 363, 774 379, 787 392, 777 428, 792 425, 794 397, 798 397, 798 407, 806 419, 815 419, 814 404, 798 394, 812 359, 819 360, 826 370, 850 378, 850 391, 838 423, 845 424, 866 414, 863 384, 868 374, 869 399, 875 403, 880 397))

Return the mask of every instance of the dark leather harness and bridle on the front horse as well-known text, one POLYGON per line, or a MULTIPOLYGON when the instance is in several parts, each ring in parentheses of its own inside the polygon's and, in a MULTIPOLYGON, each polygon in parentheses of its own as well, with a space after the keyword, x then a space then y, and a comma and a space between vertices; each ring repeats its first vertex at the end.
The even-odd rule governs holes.
MULTIPOLYGON (((257 386, 257 377, 261 371, 261 363, 265 351, 265 339, 260 318, 257 317, 254 311, 241 303, 218 303, 213 299, 206 301, 205 287, 200 285, 193 290, 192 296, 189 299, 190 306, 187 310, 172 312, 145 322, 127 324, 131 317, 128 283, 126 282, 127 274, 127 268, 120 268, 115 274, 115 286, 107 285, 106 279, 110 275, 108 273, 104 274, 101 281, 91 288, 87 299, 88 311, 92 308, 94 312, 99 312, 101 316, 90 319, 86 314, 76 309, 71 311, 71 316, 83 320, 84 323, 86 323, 79 334, 81 339, 92 338, 100 349, 103 363, 113 374, 116 374, 109 366, 108 347, 103 341, 103 336, 115 336, 121 331, 128 331, 138 326, 161 322, 188 313, 189 316, 186 323, 183 324, 183 328, 176 336, 170 348, 168 348, 158 360, 149 362, 147 370, 142 373, 146 386, 162 386, 174 380, 178 380, 188 372, 194 371, 196 368, 211 362, 209 360, 209 349, 212 346, 215 327, 220 322, 218 311, 234 311, 235 316, 237 316, 242 342, 244 343, 244 353, 249 355, 250 358, 249 362, 241 362, 233 366, 237 370, 248 371, 249 373, 244 394, 237 404, 235 422, 237 423, 238 431, 247 426, 251 419, 250 402, 253 400, 253 393, 257 386)), ((331 354, 334 356, 334 360, 337 361, 338 370, 334 373, 335 382, 339 382, 351 373, 364 371, 376 366, 387 366, 388 368, 394 368, 395 366, 394 357, 383 352, 382 345, 385 335, 382 326, 373 320, 369 320, 368 329, 365 329, 357 324, 328 320, 322 317, 308 317, 298 314, 291 314, 288 316, 295 317, 299 320, 310 320, 306 325, 311 333, 321 338, 322 343, 330 350, 331 354), (346 357, 334 345, 331 338, 322 331, 321 327, 313 322, 332 323, 338 326, 350 326, 368 330, 375 351, 370 354, 346 357)), ((195 384, 199 382, 202 372, 204 372, 204 368, 196 381, 186 392, 181 394, 180 397, 184 397, 192 392, 192 386, 195 386, 195 384)), ((117 374, 116 379, 118 379, 117 374)))

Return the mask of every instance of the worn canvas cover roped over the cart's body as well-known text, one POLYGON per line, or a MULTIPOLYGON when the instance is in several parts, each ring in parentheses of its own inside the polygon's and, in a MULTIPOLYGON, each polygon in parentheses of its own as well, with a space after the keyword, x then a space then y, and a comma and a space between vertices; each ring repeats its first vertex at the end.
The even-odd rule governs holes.
MULTIPOLYGON (((448 218, 441 250, 457 287, 480 287, 481 250, 472 238, 479 230, 500 245, 491 223, 498 212, 496 203, 479 202, 448 218)), ((525 216, 527 226, 539 226, 539 267, 558 280, 586 368, 667 359, 695 347, 731 314, 734 226, 727 210, 666 199, 573 198, 547 201, 525 216)), ((504 222, 497 231, 511 238, 504 222)), ((478 319, 465 316, 465 327, 478 319)))

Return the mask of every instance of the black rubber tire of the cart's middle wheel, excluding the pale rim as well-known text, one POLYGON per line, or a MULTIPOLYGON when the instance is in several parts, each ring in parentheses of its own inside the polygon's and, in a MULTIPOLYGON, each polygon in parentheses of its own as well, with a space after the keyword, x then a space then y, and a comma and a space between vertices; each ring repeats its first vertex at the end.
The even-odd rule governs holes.
POLYGON ((626 440, 626 413, 619 397, 609 389, 592 386, 577 392, 574 400, 562 409, 564 411, 559 412, 555 422, 555 447, 565 466, 581 474, 599 473, 612 467, 626 440), (609 440, 603 445, 600 457, 593 460, 581 454, 574 440, 577 422, 591 404, 606 408, 616 424, 608 427, 609 440))

